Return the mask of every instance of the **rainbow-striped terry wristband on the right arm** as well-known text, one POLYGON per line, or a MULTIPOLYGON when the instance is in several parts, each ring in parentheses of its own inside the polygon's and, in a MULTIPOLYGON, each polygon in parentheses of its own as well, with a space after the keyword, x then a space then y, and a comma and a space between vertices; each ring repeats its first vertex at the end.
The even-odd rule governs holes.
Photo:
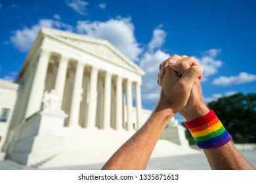
POLYGON ((224 146, 232 139, 213 110, 201 118, 186 122, 186 126, 196 145, 202 149, 224 146))

